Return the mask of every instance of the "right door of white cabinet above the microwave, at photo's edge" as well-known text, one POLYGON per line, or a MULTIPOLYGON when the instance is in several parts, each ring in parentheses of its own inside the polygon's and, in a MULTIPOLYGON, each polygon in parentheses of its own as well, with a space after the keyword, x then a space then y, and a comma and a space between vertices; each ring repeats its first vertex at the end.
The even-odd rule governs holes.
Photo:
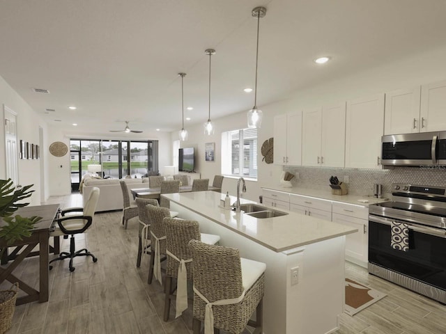
POLYGON ((420 132, 446 130, 446 81, 421 86, 420 132))

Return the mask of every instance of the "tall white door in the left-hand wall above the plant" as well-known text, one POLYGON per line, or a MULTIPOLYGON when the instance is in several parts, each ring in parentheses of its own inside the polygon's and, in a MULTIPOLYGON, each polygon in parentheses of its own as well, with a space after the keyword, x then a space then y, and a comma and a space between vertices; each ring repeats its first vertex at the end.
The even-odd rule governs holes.
POLYGON ((6 178, 19 184, 17 157, 17 114, 3 104, 3 125, 5 127, 6 178))

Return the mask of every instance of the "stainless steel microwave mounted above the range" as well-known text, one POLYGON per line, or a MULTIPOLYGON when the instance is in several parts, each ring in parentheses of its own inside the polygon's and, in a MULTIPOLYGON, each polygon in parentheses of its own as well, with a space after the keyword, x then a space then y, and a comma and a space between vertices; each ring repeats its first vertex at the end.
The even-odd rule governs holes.
POLYGON ((384 166, 445 165, 446 131, 383 136, 381 163, 384 166))

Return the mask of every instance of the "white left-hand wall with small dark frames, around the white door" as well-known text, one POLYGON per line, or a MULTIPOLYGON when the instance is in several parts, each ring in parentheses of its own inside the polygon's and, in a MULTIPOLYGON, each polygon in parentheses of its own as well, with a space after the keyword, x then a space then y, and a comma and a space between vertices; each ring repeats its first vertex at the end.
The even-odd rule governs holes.
MULTIPOLYGON (((20 95, 11 88, 6 81, 0 77, 0 106, 1 119, 3 120, 3 104, 17 113, 17 141, 27 141, 36 145, 40 144, 39 127, 47 129, 45 122, 33 111, 20 95)), ((45 142, 45 136, 43 138, 45 142)), ((45 149, 40 148, 40 159, 45 161, 45 149)), ((45 164, 44 164, 45 165, 45 164)), ((19 159, 19 182, 22 185, 34 184, 34 193, 29 198, 31 205, 40 204, 40 161, 19 159)), ((45 167, 44 167, 45 168, 45 167)), ((6 153, 4 127, 0 127, 0 178, 6 178, 6 153)), ((47 189, 45 184, 44 189, 47 189)))

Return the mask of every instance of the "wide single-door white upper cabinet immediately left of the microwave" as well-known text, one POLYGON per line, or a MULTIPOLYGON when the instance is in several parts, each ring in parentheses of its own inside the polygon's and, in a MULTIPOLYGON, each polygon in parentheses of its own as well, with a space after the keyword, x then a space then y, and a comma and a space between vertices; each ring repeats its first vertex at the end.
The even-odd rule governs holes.
POLYGON ((348 168, 381 168, 384 94, 347 102, 346 164, 348 168))

